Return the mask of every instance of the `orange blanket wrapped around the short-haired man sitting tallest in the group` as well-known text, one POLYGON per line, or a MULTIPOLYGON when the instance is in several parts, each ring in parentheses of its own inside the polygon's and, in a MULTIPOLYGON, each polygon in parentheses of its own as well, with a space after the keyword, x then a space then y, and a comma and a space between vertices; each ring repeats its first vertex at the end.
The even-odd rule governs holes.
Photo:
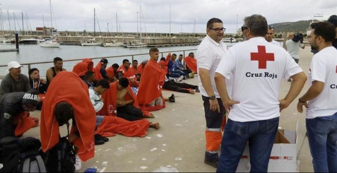
POLYGON ((165 108, 165 101, 162 106, 149 106, 158 97, 162 98, 161 86, 165 82, 165 72, 159 68, 155 60, 150 59, 140 76, 137 99, 142 110, 154 111, 165 108))

